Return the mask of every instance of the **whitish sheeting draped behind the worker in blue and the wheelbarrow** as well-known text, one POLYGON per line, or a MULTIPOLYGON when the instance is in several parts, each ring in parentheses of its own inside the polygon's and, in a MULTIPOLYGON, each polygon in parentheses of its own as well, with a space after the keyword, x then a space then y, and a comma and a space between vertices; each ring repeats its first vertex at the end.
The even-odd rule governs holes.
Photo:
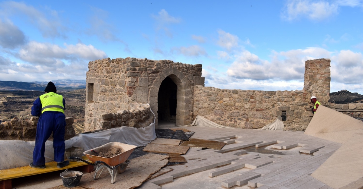
MULTIPOLYGON (((151 123, 147 127, 117 127, 97 133, 79 134, 76 137, 66 140, 65 148, 79 146, 84 147, 85 150, 90 150, 109 142, 121 142, 140 147, 146 146, 152 140, 155 140, 155 138, 154 114, 154 123, 151 123)), ((33 162, 34 146, 35 141, 0 140, 0 170, 29 165, 29 163, 33 162)), ((46 141, 44 156, 45 162, 54 160, 53 141, 46 141)))

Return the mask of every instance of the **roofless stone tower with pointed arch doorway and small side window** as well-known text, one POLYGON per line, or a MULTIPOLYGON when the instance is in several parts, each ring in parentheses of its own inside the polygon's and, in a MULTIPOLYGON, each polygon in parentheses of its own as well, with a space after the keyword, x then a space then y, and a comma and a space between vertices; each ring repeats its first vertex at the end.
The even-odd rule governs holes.
POLYGON ((190 124, 193 87, 204 85, 201 66, 130 57, 89 62, 85 131, 102 129, 99 124, 102 115, 131 110, 130 104, 136 102, 149 103, 157 117, 159 87, 166 77, 170 77, 178 87, 176 124, 190 124))

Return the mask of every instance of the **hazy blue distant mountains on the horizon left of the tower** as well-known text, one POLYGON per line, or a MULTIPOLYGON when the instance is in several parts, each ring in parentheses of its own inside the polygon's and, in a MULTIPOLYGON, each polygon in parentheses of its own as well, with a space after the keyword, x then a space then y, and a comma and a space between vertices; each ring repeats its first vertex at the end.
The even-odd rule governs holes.
MULTIPOLYGON (((84 80, 54 80, 52 81, 57 86, 57 91, 72 91, 86 88, 84 80)), ((44 91, 48 81, 36 83, 27 83, 21 81, 0 81, 0 90, 7 91, 44 91)))

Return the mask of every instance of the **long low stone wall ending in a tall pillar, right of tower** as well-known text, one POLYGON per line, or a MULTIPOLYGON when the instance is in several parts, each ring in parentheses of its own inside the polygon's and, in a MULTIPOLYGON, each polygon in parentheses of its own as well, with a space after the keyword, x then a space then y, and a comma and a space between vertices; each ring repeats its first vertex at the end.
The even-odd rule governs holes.
POLYGON ((285 118, 285 130, 305 130, 313 114, 310 102, 317 96, 327 105, 330 92, 330 60, 305 62, 302 91, 228 90, 196 86, 193 116, 203 116, 224 126, 257 129, 285 118))

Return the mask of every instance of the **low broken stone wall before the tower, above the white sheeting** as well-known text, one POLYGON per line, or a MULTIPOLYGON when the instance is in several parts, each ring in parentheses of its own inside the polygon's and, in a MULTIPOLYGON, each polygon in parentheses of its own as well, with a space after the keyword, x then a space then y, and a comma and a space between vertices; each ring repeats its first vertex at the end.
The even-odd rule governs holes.
POLYGON ((154 115, 150 111, 150 105, 134 103, 131 104, 130 110, 122 110, 117 113, 102 114, 97 120, 97 125, 102 129, 111 129, 115 127, 146 127, 154 122, 154 115))

